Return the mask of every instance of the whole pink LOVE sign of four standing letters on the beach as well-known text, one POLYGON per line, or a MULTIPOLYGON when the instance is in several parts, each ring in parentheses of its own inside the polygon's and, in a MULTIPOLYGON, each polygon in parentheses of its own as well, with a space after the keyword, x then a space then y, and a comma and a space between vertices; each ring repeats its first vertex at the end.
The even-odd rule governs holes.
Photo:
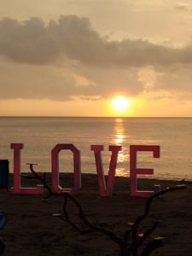
MULTIPOLYGON (((20 186, 20 150, 24 148, 22 143, 12 143, 11 148, 14 150, 14 187, 11 191, 14 194, 20 195, 39 195, 42 194, 42 187, 25 188, 20 186)), ((99 192, 102 197, 113 195, 113 185, 116 166, 118 162, 118 154, 122 149, 121 146, 109 146, 111 151, 111 160, 108 169, 107 183, 104 177, 102 168, 102 145, 91 145, 90 150, 95 154, 96 173, 98 177, 99 192)), ((152 175, 154 169, 137 168, 137 152, 138 151, 151 151, 154 158, 160 157, 160 146, 156 145, 131 145, 130 146, 130 177, 131 177, 131 196, 148 197, 153 195, 154 191, 138 191, 137 190, 137 175, 152 175)), ((56 144, 51 150, 51 185, 52 189, 57 193, 67 192, 76 193, 81 188, 81 162, 80 151, 73 144, 56 144), (62 188, 59 181, 59 154, 61 150, 70 150, 73 153, 73 172, 74 172, 74 185, 71 189, 62 188)))

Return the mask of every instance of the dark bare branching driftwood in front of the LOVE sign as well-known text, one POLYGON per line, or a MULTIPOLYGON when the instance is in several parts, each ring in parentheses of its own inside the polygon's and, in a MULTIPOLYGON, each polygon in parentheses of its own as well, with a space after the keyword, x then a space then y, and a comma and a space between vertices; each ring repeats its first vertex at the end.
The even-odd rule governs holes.
POLYGON ((143 222, 143 220, 148 216, 148 213, 150 211, 150 207, 152 202, 155 198, 158 198, 160 195, 164 195, 166 193, 186 189, 186 185, 177 185, 175 187, 161 190, 160 192, 150 196, 145 204, 144 212, 142 215, 138 216, 135 223, 132 224, 131 230, 125 230, 124 236, 119 237, 117 236, 113 231, 107 230, 102 228, 99 225, 92 224, 88 218, 84 215, 84 210, 79 204, 79 201, 75 199, 75 197, 71 194, 66 193, 55 193, 47 184, 46 182, 46 173, 44 173, 44 177, 41 177, 37 172, 35 172, 32 168, 32 164, 29 164, 30 170, 34 177, 37 177, 38 180, 44 185, 44 189, 48 190, 48 195, 44 197, 44 200, 48 199, 50 196, 60 196, 63 198, 63 206, 62 206, 62 212, 59 217, 66 221, 68 224, 73 226, 75 230, 77 230, 80 234, 86 234, 91 231, 100 232, 106 236, 108 236, 109 239, 111 239, 113 242, 119 245, 119 256, 148 256, 150 255, 155 249, 158 247, 161 247, 163 245, 163 237, 156 237, 150 241, 148 241, 147 245, 143 248, 142 252, 139 251, 139 247, 143 245, 143 242, 148 239, 148 237, 154 232, 160 221, 154 221, 154 224, 151 225, 148 230, 143 232, 142 236, 138 236, 138 226, 143 222), (78 217, 81 219, 81 221, 85 224, 87 229, 81 230, 79 226, 70 218, 70 215, 67 212, 67 202, 72 201, 73 204, 78 208, 79 213, 78 217))

